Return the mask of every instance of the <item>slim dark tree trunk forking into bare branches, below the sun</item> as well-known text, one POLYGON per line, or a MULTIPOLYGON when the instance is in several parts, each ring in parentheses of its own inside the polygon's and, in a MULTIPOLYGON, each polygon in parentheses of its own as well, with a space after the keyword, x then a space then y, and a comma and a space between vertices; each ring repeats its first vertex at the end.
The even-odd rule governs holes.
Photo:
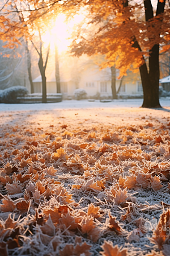
POLYGON ((45 69, 46 65, 48 62, 48 56, 49 56, 49 49, 50 49, 50 44, 47 49, 46 53, 46 59, 45 59, 45 64, 43 62, 43 56, 42 56, 42 39, 41 39, 41 33, 39 31, 39 38, 40 38, 40 51, 37 49, 35 44, 32 42, 33 46, 35 47, 37 53, 39 54, 39 69, 41 73, 41 78, 42 78, 42 103, 46 103, 46 76, 45 76, 45 69))

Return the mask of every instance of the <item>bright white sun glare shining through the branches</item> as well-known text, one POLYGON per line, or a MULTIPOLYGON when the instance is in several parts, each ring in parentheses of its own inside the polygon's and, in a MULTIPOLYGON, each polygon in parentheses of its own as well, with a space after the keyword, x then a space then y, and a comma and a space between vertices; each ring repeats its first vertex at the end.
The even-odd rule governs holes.
POLYGON ((66 22, 66 16, 64 14, 58 15, 54 22, 54 26, 46 31, 42 35, 42 41, 45 43, 44 47, 47 47, 50 43, 51 51, 54 51, 55 44, 57 44, 58 52, 67 51, 71 43, 71 34, 74 30, 74 26, 82 22, 84 16, 79 14, 75 15, 73 19, 66 22))

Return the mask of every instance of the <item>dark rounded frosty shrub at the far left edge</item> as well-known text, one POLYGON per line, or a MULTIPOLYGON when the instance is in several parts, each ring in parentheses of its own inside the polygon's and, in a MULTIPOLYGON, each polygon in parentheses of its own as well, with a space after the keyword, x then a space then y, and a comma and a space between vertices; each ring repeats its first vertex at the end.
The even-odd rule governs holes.
POLYGON ((24 97, 28 90, 20 85, 12 86, 0 92, 0 102, 2 103, 17 103, 18 97, 24 97))

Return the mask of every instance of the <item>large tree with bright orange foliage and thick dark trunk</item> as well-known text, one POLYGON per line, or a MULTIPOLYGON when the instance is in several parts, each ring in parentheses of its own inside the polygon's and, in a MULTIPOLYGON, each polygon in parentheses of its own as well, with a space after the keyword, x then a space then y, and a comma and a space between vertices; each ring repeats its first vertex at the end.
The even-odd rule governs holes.
MULTIPOLYGON (((160 107, 159 51, 168 51, 170 48, 170 8, 165 5, 165 0, 157 0, 156 9, 151 0, 28 0, 29 2, 33 8, 24 10, 24 6, 22 7, 22 11, 29 13, 27 19, 24 19, 29 26, 40 16, 50 18, 59 11, 74 15, 77 10, 85 7, 88 13, 87 28, 91 26, 90 35, 86 34, 87 28, 86 31, 84 27, 78 31, 71 52, 75 56, 84 53, 88 56, 103 54, 106 58, 102 67, 116 65, 120 69, 120 76, 126 75, 128 69, 137 72, 139 68, 144 96, 142 107, 160 107)), ((3 21, 4 17, 1 15, 0 21, 7 24, 3 21)), ((15 22, 12 26, 18 31, 15 22)), ((20 31, 23 29, 24 24, 20 31)))

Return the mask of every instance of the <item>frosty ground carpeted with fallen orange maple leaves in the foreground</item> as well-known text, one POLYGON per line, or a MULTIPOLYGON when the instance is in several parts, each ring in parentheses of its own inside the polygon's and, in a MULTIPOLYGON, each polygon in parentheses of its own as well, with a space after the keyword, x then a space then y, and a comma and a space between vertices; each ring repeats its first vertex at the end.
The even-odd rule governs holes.
POLYGON ((2 126, 1 255, 168 256, 169 129, 2 126))

